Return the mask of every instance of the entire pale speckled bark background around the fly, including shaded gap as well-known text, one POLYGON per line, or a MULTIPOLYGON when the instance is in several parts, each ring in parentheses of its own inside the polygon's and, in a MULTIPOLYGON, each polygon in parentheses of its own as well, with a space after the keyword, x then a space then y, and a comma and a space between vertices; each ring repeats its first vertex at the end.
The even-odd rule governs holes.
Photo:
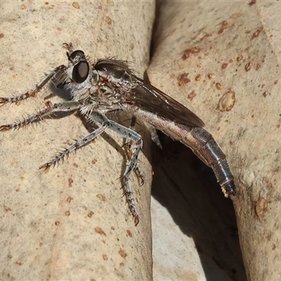
MULTIPOLYGON (((0 96, 22 93, 67 63, 63 42, 93 61, 129 60, 140 75, 147 67, 152 1, 0 6, 0 96)), ((150 81, 201 117, 226 152, 248 280, 279 280, 280 4, 172 1, 159 7, 150 81)), ((1 107, 1 124, 44 108, 49 93, 1 107)), ((62 99, 63 92, 56 93, 52 101, 62 99)), ((78 117, 0 134, 1 279, 152 279, 150 136, 138 131, 145 185, 131 177, 137 227, 118 180, 122 138, 108 132, 44 173, 41 164, 89 133, 78 117)), ((222 198, 212 172, 206 176, 200 162, 180 151, 179 164, 165 155, 155 166, 154 279, 245 280, 230 200, 222 198)))

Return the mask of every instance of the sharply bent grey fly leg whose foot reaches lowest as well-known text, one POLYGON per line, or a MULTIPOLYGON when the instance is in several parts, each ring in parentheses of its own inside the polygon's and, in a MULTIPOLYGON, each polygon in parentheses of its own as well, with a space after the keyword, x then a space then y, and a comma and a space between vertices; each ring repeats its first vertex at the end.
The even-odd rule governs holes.
POLYGON ((131 172, 133 171, 138 162, 138 155, 141 152, 141 149, 143 148, 143 139, 141 138, 141 135, 136 133, 136 131, 133 131, 132 129, 126 128, 125 126, 113 122, 112 120, 107 119, 107 117, 99 114, 98 112, 92 112, 92 114, 89 116, 89 122, 98 122, 101 124, 106 122, 108 129, 115 131, 120 136, 129 139, 130 141, 133 141, 136 144, 136 150, 132 152, 131 159, 129 159, 129 164, 126 166, 126 170, 122 176, 124 196, 126 197, 126 202, 128 204, 131 215, 133 216, 133 221, 136 226, 139 222, 139 216, 138 211, 136 211, 135 202, 133 200, 133 192, 131 191, 129 178, 131 176, 131 172))

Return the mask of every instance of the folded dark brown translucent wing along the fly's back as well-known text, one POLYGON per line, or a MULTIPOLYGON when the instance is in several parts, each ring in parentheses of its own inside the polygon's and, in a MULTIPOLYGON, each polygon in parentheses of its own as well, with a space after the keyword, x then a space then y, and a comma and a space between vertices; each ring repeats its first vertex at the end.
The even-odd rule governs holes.
POLYGON ((163 119, 188 125, 192 127, 203 127, 204 122, 185 106, 178 103, 174 98, 166 95, 159 89, 138 77, 133 78, 136 86, 133 86, 131 93, 126 94, 129 103, 133 103, 142 110, 155 113, 163 119))

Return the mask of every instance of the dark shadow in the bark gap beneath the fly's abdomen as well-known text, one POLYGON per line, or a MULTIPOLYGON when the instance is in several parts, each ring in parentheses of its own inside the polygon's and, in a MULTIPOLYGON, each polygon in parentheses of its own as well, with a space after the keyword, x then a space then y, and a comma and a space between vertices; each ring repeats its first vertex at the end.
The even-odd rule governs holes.
POLYGON ((213 171, 192 151, 162 135, 163 150, 152 150, 152 196, 195 241, 208 281, 208 262, 216 263, 232 280, 247 280, 231 200, 223 197, 213 171))

